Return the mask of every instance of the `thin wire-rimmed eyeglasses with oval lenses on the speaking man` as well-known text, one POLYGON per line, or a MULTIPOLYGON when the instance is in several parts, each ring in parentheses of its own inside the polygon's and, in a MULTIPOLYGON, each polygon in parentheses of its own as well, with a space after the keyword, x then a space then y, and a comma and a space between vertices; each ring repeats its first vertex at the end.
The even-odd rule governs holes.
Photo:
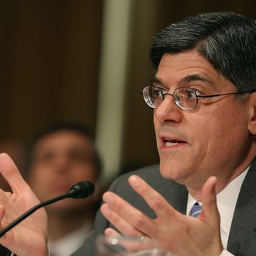
POLYGON ((175 104, 180 109, 192 110, 192 109, 195 109, 195 107, 197 106, 198 100, 201 98, 213 98, 213 97, 219 97, 223 95, 237 95, 237 94, 252 93, 252 92, 255 92, 255 91, 229 92, 229 93, 214 94, 214 95, 200 95, 199 92, 194 88, 178 87, 175 89, 173 94, 171 94, 164 88, 148 85, 144 87, 142 91, 142 95, 147 105, 153 109, 157 109, 157 107, 161 105, 161 102, 163 102, 166 95, 171 95, 175 100, 175 104))

